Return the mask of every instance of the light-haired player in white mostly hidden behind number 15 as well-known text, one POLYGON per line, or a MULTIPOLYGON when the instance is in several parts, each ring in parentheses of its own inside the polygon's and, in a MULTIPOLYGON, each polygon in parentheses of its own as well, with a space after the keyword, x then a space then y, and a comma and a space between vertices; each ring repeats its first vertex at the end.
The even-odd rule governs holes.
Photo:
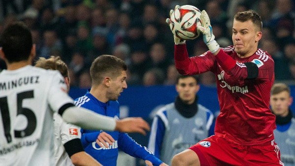
MULTIPOLYGON (((58 70, 67 85, 67 92, 70 89, 70 77, 67 65, 60 57, 51 56, 49 59, 39 58, 36 67, 58 70)), ((55 166, 101 166, 95 159, 87 154, 81 144, 81 132, 78 126, 66 123, 58 113, 54 113, 54 149, 55 166)), ((114 140, 109 134, 105 135, 105 141, 114 140)))

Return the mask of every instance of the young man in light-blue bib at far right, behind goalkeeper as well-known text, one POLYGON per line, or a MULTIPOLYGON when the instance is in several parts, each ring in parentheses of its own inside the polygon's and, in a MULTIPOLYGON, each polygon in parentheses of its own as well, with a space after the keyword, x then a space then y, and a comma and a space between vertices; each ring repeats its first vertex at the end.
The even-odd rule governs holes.
POLYGON ((275 115, 277 128, 273 131, 274 140, 280 147, 284 166, 295 166, 295 118, 290 106, 293 97, 285 83, 275 83, 270 90, 271 111, 275 115))

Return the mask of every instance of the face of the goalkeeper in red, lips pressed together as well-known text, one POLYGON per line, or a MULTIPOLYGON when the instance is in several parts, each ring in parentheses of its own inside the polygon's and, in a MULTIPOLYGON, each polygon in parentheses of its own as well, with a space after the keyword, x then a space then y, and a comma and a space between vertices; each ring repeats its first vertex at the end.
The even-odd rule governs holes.
POLYGON ((235 51, 241 58, 249 57, 256 52, 261 37, 262 33, 257 31, 251 20, 234 20, 232 39, 235 51))

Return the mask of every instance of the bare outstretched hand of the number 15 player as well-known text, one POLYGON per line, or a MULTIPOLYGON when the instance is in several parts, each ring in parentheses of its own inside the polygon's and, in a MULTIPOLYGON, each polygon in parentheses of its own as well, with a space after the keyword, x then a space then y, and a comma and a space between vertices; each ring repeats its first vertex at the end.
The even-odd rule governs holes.
POLYGON ((146 131, 149 131, 148 122, 143 118, 124 118, 117 121, 116 131, 124 133, 141 133, 146 135, 146 131))

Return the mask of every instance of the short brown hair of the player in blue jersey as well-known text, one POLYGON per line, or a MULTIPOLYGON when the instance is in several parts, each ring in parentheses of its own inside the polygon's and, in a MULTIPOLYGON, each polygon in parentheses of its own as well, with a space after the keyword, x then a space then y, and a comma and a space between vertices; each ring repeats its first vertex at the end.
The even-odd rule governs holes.
POLYGON ((105 76, 117 78, 121 71, 126 70, 127 65, 123 60, 113 55, 101 55, 90 66, 92 84, 100 84, 105 76))

